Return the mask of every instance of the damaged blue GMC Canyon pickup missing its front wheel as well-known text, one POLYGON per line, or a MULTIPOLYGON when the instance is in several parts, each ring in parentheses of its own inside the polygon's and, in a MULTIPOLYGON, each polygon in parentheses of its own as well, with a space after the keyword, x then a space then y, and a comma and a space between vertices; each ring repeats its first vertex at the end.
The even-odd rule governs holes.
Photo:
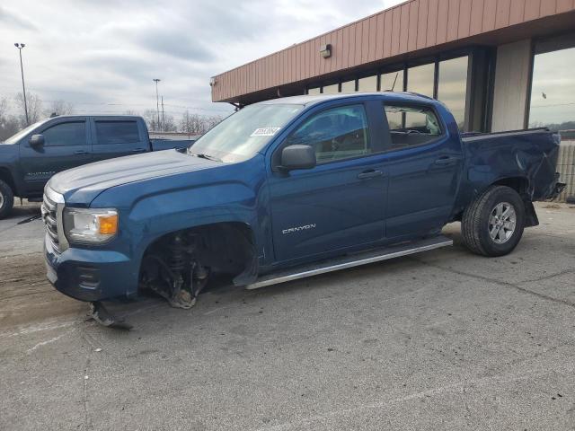
MULTIPOLYGON (((450 245, 512 251, 562 189, 546 129, 460 136, 411 93, 239 110, 185 151, 61 172, 42 206, 49 281, 93 304, 142 290, 189 308, 211 276, 256 288, 450 245)), ((97 308, 97 307, 96 307, 97 308)))

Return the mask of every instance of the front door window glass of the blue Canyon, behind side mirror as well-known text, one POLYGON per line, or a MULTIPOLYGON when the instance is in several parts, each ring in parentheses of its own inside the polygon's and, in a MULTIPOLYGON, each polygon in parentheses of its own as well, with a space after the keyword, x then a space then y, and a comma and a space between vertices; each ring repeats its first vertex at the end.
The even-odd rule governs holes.
POLYGON ((317 163, 370 154, 364 106, 341 106, 313 115, 288 137, 287 145, 296 144, 314 147, 317 163))

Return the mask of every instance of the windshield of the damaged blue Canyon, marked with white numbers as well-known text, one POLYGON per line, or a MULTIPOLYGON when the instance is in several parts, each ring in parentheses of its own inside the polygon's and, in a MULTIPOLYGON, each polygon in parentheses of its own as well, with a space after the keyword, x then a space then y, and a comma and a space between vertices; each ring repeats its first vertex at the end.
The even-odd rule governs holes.
POLYGON ((188 148, 188 154, 226 163, 251 158, 303 105, 256 104, 235 112, 188 148))

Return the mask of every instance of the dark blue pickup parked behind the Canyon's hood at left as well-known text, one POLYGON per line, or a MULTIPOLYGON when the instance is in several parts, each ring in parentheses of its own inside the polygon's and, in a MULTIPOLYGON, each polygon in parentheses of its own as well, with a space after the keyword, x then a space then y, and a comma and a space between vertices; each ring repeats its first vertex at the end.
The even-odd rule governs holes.
POLYGON ((43 119, 0 142, 0 219, 13 199, 40 201, 56 172, 86 163, 172 149, 178 141, 151 142, 146 122, 130 116, 60 116, 43 119))

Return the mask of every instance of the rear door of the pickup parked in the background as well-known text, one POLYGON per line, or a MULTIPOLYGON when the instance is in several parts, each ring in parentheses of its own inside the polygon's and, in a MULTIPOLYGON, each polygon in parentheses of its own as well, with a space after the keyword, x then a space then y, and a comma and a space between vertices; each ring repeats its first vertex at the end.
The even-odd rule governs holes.
POLYGON ((141 121, 135 118, 94 118, 92 127, 94 160, 146 153, 149 139, 141 121))

